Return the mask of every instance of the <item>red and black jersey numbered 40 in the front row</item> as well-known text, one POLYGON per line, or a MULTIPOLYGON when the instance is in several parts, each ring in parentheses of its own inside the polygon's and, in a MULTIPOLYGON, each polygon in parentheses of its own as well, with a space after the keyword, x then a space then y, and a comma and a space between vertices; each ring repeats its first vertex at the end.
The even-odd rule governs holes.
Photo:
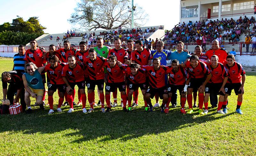
POLYGON ((116 64, 116 66, 111 67, 108 62, 104 62, 103 66, 107 69, 109 83, 124 82, 124 69, 128 65, 122 64, 122 66, 118 66, 116 64))

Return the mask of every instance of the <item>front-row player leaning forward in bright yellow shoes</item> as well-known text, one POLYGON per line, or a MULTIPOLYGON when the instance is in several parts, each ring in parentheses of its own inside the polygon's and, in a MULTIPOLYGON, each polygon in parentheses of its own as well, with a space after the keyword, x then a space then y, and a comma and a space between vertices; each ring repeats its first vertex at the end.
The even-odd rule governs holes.
POLYGON ((190 82, 188 85, 188 111, 187 113, 193 113, 192 106, 192 92, 193 89, 198 90, 198 113, 203 115, 203 105, 204 105, 204 89, 207 82, 211 79, 212 74, 207 68, 206 64, 199 60, 198 56, 192 55, 190 60, 186 63, 186 69, 190 75, 190 82), (206 77, 206 78, 205 78, 206 77))

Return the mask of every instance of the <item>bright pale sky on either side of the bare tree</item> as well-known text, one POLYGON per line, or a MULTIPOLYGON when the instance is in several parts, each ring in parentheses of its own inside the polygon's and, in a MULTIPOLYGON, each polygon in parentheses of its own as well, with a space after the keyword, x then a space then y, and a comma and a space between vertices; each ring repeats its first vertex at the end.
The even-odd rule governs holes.
MULTIPOLYGON (((68 23, 71 13, 80 0, 1 0, 0 24, 12 22, 16 16, 27 20, 29 17, 39 17, 39 22, 49 34, 66 32, 71 29, 68 23), (22 2, 22 3, 21 3, 22 2)), ((179 22, 180 0, 134 0, 134 4, 143 7, 148 13, 148 22, 144 26, 164 25, 166 29, 174 27, 179 22), (161 2, 161 3, 158 3, 161 2)))

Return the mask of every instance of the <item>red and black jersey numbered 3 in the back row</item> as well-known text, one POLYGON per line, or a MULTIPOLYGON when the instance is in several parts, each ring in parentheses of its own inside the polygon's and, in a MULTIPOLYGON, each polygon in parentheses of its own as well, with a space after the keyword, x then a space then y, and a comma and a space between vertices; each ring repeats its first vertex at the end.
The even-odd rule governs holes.
POLYGON ((143 48, 143 51, 135 50, 132 52, 131 60, 140 66, 147 66, 150 59, 152 59, 152 55, 149 49, 143 48))

